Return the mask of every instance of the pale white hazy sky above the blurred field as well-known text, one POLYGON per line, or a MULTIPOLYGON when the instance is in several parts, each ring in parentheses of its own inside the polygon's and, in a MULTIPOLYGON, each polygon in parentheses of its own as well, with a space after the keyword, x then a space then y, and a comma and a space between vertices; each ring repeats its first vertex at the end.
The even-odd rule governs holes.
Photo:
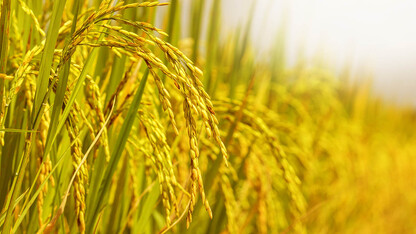
POLYGON ((300 46, 307 56, 324 51, 335 66, 348 60, 371 71, 385 99, 416 106, 415 0, 223 0, 222 26, 232 30, 250 9, 252 38, 263 53, 285 19, 289 61, 300 46))

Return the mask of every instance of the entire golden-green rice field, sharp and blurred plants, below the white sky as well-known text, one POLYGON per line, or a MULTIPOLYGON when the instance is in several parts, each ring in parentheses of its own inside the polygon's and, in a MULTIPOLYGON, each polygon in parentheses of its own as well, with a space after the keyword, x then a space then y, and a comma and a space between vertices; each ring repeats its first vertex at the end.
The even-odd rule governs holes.
POLYGON ((414 107, 221 2, 1 1, 1 233, 415 233, 414 107))

